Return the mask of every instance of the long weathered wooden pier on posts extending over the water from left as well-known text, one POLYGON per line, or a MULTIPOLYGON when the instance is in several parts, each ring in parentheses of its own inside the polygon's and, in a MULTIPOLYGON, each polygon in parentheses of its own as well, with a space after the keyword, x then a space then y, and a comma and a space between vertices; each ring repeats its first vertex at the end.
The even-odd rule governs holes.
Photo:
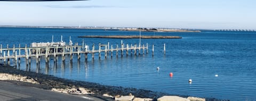
POLYGON ((113 57, 113 52, 116 52, 116 56, 118 56, 118 52, 121 52, 121 56, 129 55, 129 51, 134 55, 140 55, 141 53, 144 54, 146 51, 146 54, 148 54, 148 44, 146 45, 124 45, 121 43, 121 45, 109 45, 108 44, 101 44, 98 45, 98 50, 95 49, 95 45, 92 45, 92 48, 90 49, 89 46, 83 45, 74 45, 74 46, 47 46, 47 47, 15 47, 13 45, 12 48, 9 48, 9 45, 7 45, 6 48, 3 48, 2 45, 0 46, 0 60, 4 60, 4 62, 7 62, 10 64, 10 59, 13 59, 14 65, 17 65, 17 63, 20 65, 20 59, 25 58, 26 64, 30 64, 31 57, 36 58, 36 62, 40 62, 41 58, 45 58, 45 62, 48 63, 50 61, 50 56, 54 57, 54 62, 57 61, 57 56, 62 57, 62 61, 65 61, 65 55, 68 55, 70 57, 70 61, 73 60, 73 54, 77 54, 77 59, 80 60, 81 55, 84 54, 85 60, 87 61, 87 55, 91 54, 92 59, 94 59, 94 54, 99 54, 99 59, 101 58, 101 53, 105 53, 105 58, 110 53, 110 56, 113 57), (141 52, 142 51, 142 52, 141 52))

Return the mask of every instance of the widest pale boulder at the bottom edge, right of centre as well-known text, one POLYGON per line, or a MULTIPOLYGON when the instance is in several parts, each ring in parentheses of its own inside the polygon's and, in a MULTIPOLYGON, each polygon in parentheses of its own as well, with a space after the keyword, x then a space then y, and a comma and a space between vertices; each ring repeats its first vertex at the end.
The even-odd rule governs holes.
POLYGON ((157 101, 190 101, 187 98, 179 97, 179 96, 163 96, 158 98, 157 101))

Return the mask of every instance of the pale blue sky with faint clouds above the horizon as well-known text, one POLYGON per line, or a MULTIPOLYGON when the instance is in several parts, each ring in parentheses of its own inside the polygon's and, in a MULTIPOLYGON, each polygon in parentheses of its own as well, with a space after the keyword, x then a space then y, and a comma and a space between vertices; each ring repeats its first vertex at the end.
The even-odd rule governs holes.
POLYGON ((0 2, 0 25, 256 29, 254 0, 0 2))

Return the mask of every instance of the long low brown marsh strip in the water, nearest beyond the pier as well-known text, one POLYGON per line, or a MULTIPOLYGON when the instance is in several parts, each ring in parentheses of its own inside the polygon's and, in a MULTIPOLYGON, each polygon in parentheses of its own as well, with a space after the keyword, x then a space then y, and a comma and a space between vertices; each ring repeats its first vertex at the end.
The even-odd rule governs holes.
POLYGON ((119 38, 119 39, 179 39, 179 36, 78 36, 78 38, 119 38))

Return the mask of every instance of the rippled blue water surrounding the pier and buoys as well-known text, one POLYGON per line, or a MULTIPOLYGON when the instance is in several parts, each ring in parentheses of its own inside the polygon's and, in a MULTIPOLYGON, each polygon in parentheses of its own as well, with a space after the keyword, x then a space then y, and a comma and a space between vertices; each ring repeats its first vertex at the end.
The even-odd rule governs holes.
MULTIPOLYGON (((0 28, 0 44, 17 47, 33 42, 54 41, 82 45, 83 35, 139 35, 137 31, 53 29, 53 28, 0 28)), ((202 32, 141 32, 141 35, 181 36, 182 39, 141 39, 148 43, 149 54, 97 58, 89 55, 88 60, 73 62, 68 57, 57 65, 50 61, 45 68, 42 59, 36 68, 32 58, 30 71, 54 75, 55 77, 97 82, 103 85, 134 87, 175 95, 214 97, 230 100, 256 99, 256 32, 202 31, 202 32), (166 44, 166 54, 163 45, 166 44), (152 45, 154 44, 154 57, 152 45), (156 68, 159 66, 159 70, 156 68), (173 77, 169 73, 173 73, 173 77), (218 77, 215 75, 218 74, 218 77), (192 79, 191 84, 188 80, 192 79)), ((139 43, 139 39, 83 38, 86 45, 97 47, 99 43, 110 45, 139 43)), ((91 48, 91 47, 90 47, 91 48)), ((103 57, 103 54, 102 54, 103 57)), ((61 60, 61 58, 59 58, 61 60)), ((0 61, 1 63, 3 61, 0 61)), ((21 70, 27 70, 21 60, 21 70)))

